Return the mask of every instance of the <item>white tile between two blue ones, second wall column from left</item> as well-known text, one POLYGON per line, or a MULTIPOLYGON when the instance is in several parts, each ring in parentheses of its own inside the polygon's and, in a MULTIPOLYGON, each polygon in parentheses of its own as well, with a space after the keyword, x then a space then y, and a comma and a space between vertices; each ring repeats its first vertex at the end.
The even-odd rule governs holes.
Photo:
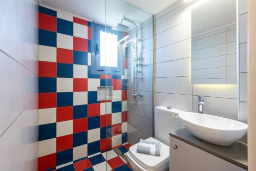
POLYGON ((57 78, 57 92, 73 92, 73 78, 57 78))

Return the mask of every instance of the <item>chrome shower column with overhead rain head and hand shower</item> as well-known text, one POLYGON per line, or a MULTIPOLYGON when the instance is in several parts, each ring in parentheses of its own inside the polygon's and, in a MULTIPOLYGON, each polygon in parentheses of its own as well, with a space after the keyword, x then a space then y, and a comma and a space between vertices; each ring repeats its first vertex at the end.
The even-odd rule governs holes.
MULTIPOLYGON (((142 67, 143 64, 139 63, 140 58, 138 57, 138 42, 140 41, 140 39, 138 39, 138 26, 136 24, 136 22, 134 22, 133 20, 129 19, 129 18, 122 18, 121 23, 116 24, 114 27, 112 27, 113 30, 116 31, 121 31, 121 32, 125 32, 129 29, 128 26, 123 25, 123 21, 132 23, 133 25, 135 25, 136 28, 136 40, 135 40, 135 47, 134 47, 134 42, 132 44, 132 49, 133 49, 133 60, 134 60, 134 77, 133 80, 131 81, 132 84, 132 91, 130 92, 130 97, 133 97, 134 100, 134 105, 131 105, 131 100, 129 100, 129 106, 131 108, 137 108, 137 97, 143 97, 142 93, 138 93, 138 79, 139 79, 139 73, 141 72, 139 70, 139 67, 142 67)), ((126 38, 125 38, 126 39, 126 38)), ((122 40, 122 39, 121 39, 122 40)), ((121 42, 120 40, 120 42, 121 42)), ((123 39, 124 40, 124 39, 123 39)), ((122 40, 122 41, 123 41, 122 40)), ((130 39, 126 42, 124 42, 123 45, 128 44, 129 42, 131 42, 133 39, 130 39)))

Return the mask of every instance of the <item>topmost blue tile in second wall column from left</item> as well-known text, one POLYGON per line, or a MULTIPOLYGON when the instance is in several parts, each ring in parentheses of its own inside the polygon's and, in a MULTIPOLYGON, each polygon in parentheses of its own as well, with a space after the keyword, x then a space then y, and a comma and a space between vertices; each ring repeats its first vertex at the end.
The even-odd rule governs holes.
POLYGON ((57 33, 73 36, 73 22, 57 18, 57 33))

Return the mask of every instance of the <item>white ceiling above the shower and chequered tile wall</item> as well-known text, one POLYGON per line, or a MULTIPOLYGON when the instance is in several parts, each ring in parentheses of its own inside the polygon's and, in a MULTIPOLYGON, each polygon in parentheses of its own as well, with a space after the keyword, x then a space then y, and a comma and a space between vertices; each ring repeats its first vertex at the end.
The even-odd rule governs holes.
MULTIPOLYGON (((152 14, 163 9, 173 1, 174 0, 40 0, 40 5, 84 17, 101 25, 106 24, 106 26, 113 27, 117 23, 120 23, 123 17, 135 20, 138 23, 144 22, 144 20, 152 17, 152 14)), ((123 24, 131 28, 134 27, 132 24, 125 21, 123 24)))

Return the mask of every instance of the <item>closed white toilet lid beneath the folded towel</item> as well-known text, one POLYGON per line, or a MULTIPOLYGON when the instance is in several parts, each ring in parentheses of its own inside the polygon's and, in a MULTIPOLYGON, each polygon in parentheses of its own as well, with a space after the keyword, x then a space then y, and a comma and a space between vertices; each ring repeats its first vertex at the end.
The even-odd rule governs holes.
MULTIPOLYGON (((160 142, 153 137, 147 138, 146 140, 160 142)), ((152 155, 137 153, 138 143, 132 145, 129 151, 133 159, 136 160, 145 169, 156 170, 159 167, 169 162, 169 146, 163 144, 162 142, 160 142, 160 144, 161 144, 161 151, 162 151, 161 156, 152 156, 152 155)))

